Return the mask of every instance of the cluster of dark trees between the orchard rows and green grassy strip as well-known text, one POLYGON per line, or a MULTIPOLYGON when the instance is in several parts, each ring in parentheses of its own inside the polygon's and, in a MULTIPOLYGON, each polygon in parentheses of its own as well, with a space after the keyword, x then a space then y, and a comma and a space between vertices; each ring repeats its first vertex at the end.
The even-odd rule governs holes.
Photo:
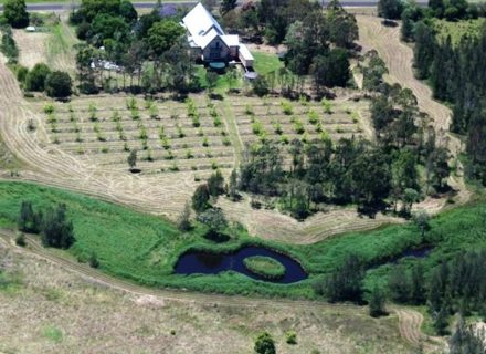
MULTIPOLYGON (((387 69, 371 55, 361 70, 364 85, 376 92, 371 102, 376 140, 352 137, 334 143, 321 134, 320 139, 294 139, 282 147, 264 137, 246 147, 240 190, 305 219, 329 204, 353 204, 371 216, 388 210, 410 217, 414 202, 447 189, 447 152, 437 146, 433 132, 423 129, 426 117, 412 92, 384 83, 387 69)), ((283 106, 292 114, 290 104, 283 106)), ((332 112, 332 103, 324 100, 323 110, 332 112)))

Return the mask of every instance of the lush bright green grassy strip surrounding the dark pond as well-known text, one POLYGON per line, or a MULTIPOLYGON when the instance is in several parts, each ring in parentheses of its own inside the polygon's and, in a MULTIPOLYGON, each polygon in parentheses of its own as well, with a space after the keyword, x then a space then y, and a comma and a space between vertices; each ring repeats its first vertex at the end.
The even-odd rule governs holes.
MULTIPOLYGON (((66 204, 77 239, 70 252, 80 259, 87 259, 95 252, 104 272, 147 285, 228 294, 314 298, 313 283, 339 267, 349 253, 358 253, 372 266, 384 263, 405 249, 430 243, 435 249, 424 262, 426 268, 431 268, 459 250, 486 247, 484 204, 457 208, 433 219, 432 229, 424 240, 415 226, 401 225, 347 233, 315 244, 289 246, 250 237, 241 228, 232 230, 231 241, 215 244, 202 237, 204 230, 199 227, 189 233, 180 233, 170 221, 160 217, 80 194, 25 183, 0 183, 1 227, 14 228, 22 200, 31 200, 36 208, 55 202, 66 204), (299 283, 282 285, 253 281, 233 272, 219 275, 172 274, 179 254, 189 249, 229 251, 242 244, 265 246, 285 252, 303 264, 309 278, 299 283)), ((368 282, 381 281, 391 267, 373 268, 368 272, 368 282)))

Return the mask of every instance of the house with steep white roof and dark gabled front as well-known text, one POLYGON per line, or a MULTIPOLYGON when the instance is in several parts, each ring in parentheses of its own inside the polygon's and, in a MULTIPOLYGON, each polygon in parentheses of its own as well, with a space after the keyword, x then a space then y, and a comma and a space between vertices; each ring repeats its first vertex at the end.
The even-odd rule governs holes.
POLYGON ((247 70, 253 66, 253 55, 237 34, 224 33, 212 14, 198 3, 182 19, 188 30, 188 42, 192 56, 205 63, 239 61, 247 70))

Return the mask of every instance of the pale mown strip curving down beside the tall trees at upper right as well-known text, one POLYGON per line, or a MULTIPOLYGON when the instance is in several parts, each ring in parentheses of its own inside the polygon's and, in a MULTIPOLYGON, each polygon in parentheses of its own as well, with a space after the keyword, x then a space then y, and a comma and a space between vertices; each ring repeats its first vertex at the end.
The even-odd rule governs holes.
MULTIPOLYGON (((387 80, 390 83, 412 90, 416 96, 419 107, 425 112, 432 119, 431 126, 436 132, 437 144, 448 148, 451 159, 457 164, 457 176, 451 176, 448 184, 457 190, 456 202, 464 204, 471 192, 466 189, 463 178, 463 166, 457 156, 463 150, 463 144, 459 138, 448 132, 452 112, 445 105, 432 98, 432 90, 424 82, 416 80, 413 73, 413 49, 400 41, 400 27, 385 27, 377 17, 357 15, 359 27, 359 43, 363 51, 374 49, 385 62, 389 69, 387 80)), ((445 200, 426 200, 416 208, 427 209, 436 212, 444 207, 445 200)))

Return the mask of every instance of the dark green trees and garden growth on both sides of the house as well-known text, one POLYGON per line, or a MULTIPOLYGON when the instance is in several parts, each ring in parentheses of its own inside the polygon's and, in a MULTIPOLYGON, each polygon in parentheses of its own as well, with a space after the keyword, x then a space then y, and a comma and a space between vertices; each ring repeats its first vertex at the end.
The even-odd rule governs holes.
MULTIPOLYGON (((80 91, 187 94, 207 88, 212 94, 214 88, 239 87, 237 72, 202 74, 204 70, 194 65, 179 25, 187 10, 181 8, 177 14, 165 15, 156 6, 150 13, 137 18, 127 0, 83 0, 80 10, 71 15, 77 37, 85 41, 76 46, 80 91), (101 46, 103 51, 98 50, 101 46), (107 70, 106 63, 116 65, 120 75, 107 70)), ((263 77, 255 81, 255 93, 263 95, 278 87, 283 94, 296 96, 297 92, 308 91, 304 84, 308 79, 313 79, 317 95, 325 93, 324 86, 348 84, 348 49, 358 38, 358 28, 355 18, 337 1, 325 13, 317 2, 308 0, 262 1, 242 7, 228 1, 220 10, 229 31, 237 30, 255 41, 264 37, 272 43, 285 40, 287 44, 285 67, 281 67, 276 56, 266 64, 266 58, 256 55, 255 69, 263 77)))

